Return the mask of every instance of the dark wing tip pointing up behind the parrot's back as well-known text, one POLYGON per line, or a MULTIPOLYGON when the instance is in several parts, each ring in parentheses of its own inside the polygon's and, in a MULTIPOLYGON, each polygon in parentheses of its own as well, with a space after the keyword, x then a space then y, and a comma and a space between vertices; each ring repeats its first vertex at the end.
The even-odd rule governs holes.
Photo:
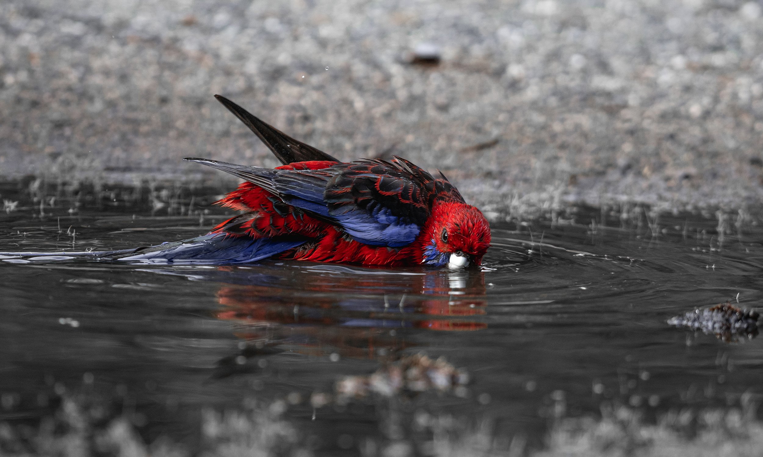
POLYGON ((223 104, 231 113, 235 114, 241 122, 245 123, 259 139, 273 152, 284 165, 300 161, 338 161, 327 153, 316 149, 311 145, 298 141, 286 135, 281 130, 262 122, 252 113, 244 110, 239 105, 228 100, 222 95, 215 95, 217 101, 223 104))

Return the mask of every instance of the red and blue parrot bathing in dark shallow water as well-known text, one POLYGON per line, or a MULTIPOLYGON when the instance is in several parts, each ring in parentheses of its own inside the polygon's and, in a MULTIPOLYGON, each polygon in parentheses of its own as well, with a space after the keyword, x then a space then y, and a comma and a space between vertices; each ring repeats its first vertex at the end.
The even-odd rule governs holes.
POLYGON ((216 203, 240 212, 198 238, 130 252, 149 263, 245 264, 266 258, 363 266, 481 264, 487 219, 444 174, 394 156, 342 162, 215 95, 282 162, 277 168, 186 158, 233 174, 216 203))

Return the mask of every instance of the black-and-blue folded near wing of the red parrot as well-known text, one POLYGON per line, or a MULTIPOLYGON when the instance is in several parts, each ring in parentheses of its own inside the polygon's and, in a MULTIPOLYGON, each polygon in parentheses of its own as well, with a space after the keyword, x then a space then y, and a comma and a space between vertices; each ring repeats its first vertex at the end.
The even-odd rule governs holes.
POLYGON ((445 177, 402 158, 338 163, 319 170, 273 170, 189 158, 250 181, 285 203, 340 225, 365 244, 399 248, 419 235, 434 200, 463 201, 445 177))

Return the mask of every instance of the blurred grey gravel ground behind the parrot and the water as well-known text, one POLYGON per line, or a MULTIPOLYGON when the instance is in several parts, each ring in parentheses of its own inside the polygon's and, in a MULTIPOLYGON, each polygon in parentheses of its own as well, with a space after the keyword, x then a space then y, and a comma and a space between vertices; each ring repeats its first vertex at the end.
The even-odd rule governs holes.
POLYGON ((494 219, 568 202, 744 209, 763 196, 761 10, 4 0, 0 176, 210 177, 189 155, 276 165, 219 93, 340 158, 441 168, 494 219), (432 48, 439 63, 412 61, 432 48))

